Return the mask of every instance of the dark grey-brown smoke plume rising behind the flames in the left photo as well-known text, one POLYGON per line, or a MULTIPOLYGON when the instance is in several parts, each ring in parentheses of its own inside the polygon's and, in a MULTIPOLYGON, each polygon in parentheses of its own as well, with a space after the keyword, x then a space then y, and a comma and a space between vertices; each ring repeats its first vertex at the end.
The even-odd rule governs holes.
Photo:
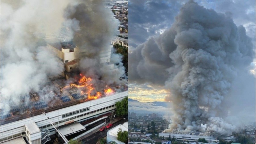
POLYGON ((113 13, 104 8, 99 0, 77 1, 67 7, 66 17, 79 21, 79 30, 74 33, 74 43, 79 47, 79 67, 85 76, 99 80, 95 84, 101 85, 120 83, 119 78, 124 75, 121 58, 112 61, 119 63, 118 70, 111 71, 109 65, 101 62, 100 58, 110 50, 111 38, 118 33, 119 21, 113 13))

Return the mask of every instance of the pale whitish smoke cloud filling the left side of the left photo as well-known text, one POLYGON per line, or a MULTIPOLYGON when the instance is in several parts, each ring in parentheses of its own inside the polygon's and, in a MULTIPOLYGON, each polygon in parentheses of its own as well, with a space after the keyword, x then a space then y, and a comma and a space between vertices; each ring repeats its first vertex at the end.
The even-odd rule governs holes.
POLYGON ((39 34, 61 28, 67 4, 1 0, 1 109, 26 103, 29 92, 40 91, 49 77, 63 71, 39 34))

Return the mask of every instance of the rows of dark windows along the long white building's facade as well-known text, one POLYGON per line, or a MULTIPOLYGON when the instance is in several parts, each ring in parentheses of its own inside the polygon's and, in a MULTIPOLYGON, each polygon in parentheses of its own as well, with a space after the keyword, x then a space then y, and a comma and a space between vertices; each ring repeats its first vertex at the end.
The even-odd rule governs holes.
MULTIPOLYGON (((96 113, 96 112, 99 112, 99 111, 102 111, 102 110, 105 110, 105 109, 108 109, 108 108, 111 108, 111 107, 115 107, 115 106, 116 106, 116 105, 111 105, 111 106, 108 106, 108 107, 105 107, 105 108, 100 108, 100 109, 97 109, 97 110, 94 110, 94 111, 91 111, 91 112, 84 113, 84 114, 82 114, 82 115, 70 117, 70 118, 61 120, 61 121, 59 121, 59 122, 55 122, 54 125, 57 125, 57 124, 60 124, 60 123, 64 123, 64 122, 68 122, 68 121, 70 121, 70 120, 73 120, 73 119, 76 119, 76 118, 79 118, 79 117, 82 117, 82 116, 90 115, 90 114, 93 114, 93 113, 96 113)), ((84 109, 87 110, 87 108, 84 108, 84 109)), ((81 110, 84 111, 84 109, 81 109, 81 110)), ((88 109, 89 109, 89 108, 88 108, 88 109)), ((80 111, 81 111, 81 110, 80 110, 80 111)), ((74 113, 74 112, 73 112, 73 113, 74 113)), ((73 114, 73 113, 72 113, 72 114, 73 114)), ((78 113, 79 113, 79 111, 78 111, 78 113)), ((76 114, 78 114, 78 113, 77 113, 77 111, 76 111, 76 114)), ((70 113, 69 113, 69 114, 70 114, 70 113)), ((63 116, 62 116, 62 117, 63 117, 63 116)), ((41 126, 41 127, 39 127, 39 128, 44 129, 44 128, 48 128, 48 127, 50 127, 50 126, 52 126, 52 124, 44 125, 44 126, 41 126)))

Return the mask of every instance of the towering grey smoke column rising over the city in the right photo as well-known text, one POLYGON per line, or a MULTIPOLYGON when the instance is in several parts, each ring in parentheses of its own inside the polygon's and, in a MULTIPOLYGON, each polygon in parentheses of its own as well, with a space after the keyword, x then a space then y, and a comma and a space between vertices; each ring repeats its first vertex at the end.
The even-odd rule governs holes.
POLYGON ((172 101, 174 115, 165 132, 228 134, 235 126, 223 119, 227 116, 223 100, 253 58, 243 26, 189 1, 170 29, 129 53, 129 79, 170 90, 166 100, 172 101), (207 128, 201 129, 201 124, 207 128))

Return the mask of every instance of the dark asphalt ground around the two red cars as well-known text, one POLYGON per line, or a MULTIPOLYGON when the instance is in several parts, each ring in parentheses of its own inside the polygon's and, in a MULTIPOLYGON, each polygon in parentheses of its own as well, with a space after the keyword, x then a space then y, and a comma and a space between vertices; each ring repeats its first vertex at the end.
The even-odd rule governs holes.
MULTIPOLYGON (((127 122, 127 119, 116 118, 114 121, 111 121, 111 123, 113 124, 113 127, 115 127, 119 124, 123 124, 124 122, 127 122)), ((98 140, 107 136, 108 130, 109 129, 105 130, 104 132, 100 132, 99 129, 97 129, 97 130, 93 131, 92 133, 89 133, 89 134, 83 136, 82 144, 96 144, 98 140)))

